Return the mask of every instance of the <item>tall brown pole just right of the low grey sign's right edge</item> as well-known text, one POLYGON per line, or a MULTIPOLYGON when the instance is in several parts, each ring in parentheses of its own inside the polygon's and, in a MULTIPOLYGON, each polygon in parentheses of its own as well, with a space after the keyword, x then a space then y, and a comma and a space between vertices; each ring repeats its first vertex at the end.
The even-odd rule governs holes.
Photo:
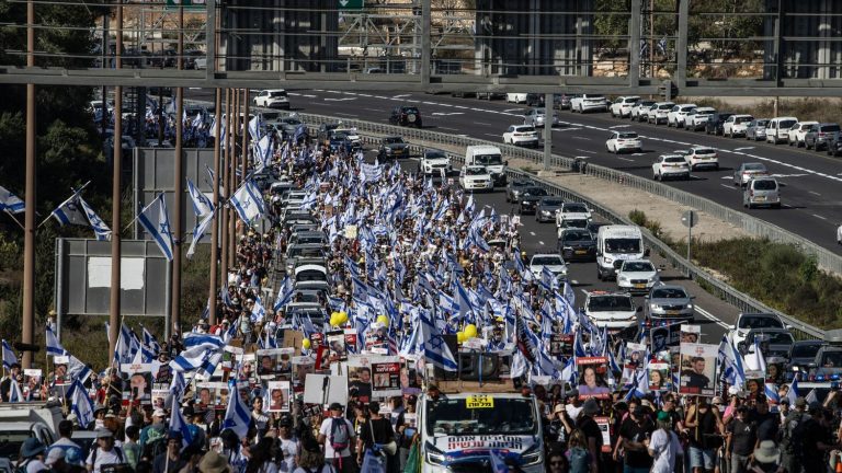
MULTIPOLYGON (((175 64, 182 70, 184 56, 184 7, 179 7, 179 49, 175 64)), ((175 89, 175 173, 173 176, 173 241, 172 241, 172 330, 181 333, 181 242, 184 239, 181 208, 184 204, 184 88, 175 89)))

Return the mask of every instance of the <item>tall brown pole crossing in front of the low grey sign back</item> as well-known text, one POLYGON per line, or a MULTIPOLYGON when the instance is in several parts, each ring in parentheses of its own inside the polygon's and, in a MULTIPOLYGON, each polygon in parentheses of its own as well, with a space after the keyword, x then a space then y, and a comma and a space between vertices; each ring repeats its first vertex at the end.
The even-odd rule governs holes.
MULTIPOLYGON (((123 67, 123 3, 117 3, 117 42, 114 67, 123 67)), ((123 180, 123 88, 114 88, 114 165, 111 183, 111 304, 109 307, 109 354, 117 346, 120 333, 121 241, 120 221, 121 183, 123 180)))

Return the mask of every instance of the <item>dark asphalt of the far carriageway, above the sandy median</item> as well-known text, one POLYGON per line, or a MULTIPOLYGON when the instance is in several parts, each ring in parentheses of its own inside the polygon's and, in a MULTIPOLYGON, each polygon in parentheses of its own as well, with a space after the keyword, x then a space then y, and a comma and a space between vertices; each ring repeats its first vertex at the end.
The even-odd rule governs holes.
MULTIPOLYGON (((522 105, 500 101, 489 103, 475 99, 394 92, 292 91, 291 102, 294 108, 310 113, 380 123, 388 122, 392 106, 414 104, 421 109, 425 128, 492 141, 500 141, 502 131, 509 125, 520 123, 524 109, 522 105)), ((827 249, 839 251, 833 236, 835 226, 842 221, 842 201, 839 198, 842 166, 839 160, 787 146, 775 147, 614 119, 607 114, 562 112, 560 117, 564 124, 554 130, 554 152, 583 158, 647 178, 651 178, 651 161, 660 153, 692 145, 717 148, 720 171, 697 171, 689 182, 668 184, 750 212, 827 249), (623 155, 606 152, 604 141, 611 129, 638 131, 644 137, 645 152, 623 155), (782 183, 783 209, 742 209, 741 192, 731 184, 731 176, 736 166, 750 161, 764 162, 782 183)))

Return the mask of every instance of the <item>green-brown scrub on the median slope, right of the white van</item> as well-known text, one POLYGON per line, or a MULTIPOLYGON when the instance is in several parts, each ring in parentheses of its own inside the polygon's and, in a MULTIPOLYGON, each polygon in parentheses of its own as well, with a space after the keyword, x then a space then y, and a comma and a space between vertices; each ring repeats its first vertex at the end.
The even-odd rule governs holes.
MULTIPOLYGON (((633 210, 628 218, 673 250, 685 250, 685 241, 660 235, 660 223, 642 211, 633 210)), ((813 256, 795 245, 755 238, 694 240, 692 253, 696 264, 721 274, 735 289, 771 308, 824 330, 842 324, 842 278, 821 270, 813 256)))

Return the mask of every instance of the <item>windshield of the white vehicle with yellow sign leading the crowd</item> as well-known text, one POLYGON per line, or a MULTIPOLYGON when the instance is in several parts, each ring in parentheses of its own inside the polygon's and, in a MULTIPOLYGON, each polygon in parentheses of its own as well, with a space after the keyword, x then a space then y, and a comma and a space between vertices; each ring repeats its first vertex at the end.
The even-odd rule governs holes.
MULTIPOLYGON (((490 407, 468 405, 465 399, 447 399, 426 403, 426 435, 490 436, 536 435, 532 397, 492 397, 490 407)), ((488 404, 486 404, 488 405, 488 404)))

